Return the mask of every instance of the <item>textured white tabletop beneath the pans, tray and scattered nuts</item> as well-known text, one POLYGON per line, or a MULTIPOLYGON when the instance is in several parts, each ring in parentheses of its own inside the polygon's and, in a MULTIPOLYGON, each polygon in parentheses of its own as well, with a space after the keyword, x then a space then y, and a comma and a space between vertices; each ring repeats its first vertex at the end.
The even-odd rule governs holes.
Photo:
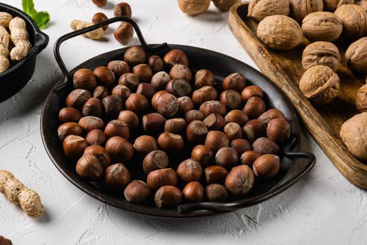
MULTIPOLYGON (((20 0, 2 0, 21 7, 20 0)), ((0 104, 0 168, 8 169, 41 195, 45 214, 28 218, 0 195, 0 235, 13 244, 366 244, 367 194, 352 186, 303 136, 303 150, 317 156, 310 174, 285 193, 255 207, 194 221, 144 218, 115 209, 82 193, 52 165, 41 142, 39 120, 45 96, 61 76, 52 54, 56 38, 73 19, 98 11, 113 16, 113 3, 98 8, 90 0, 36 0, 48 10, 50 44, 38 56, 36 73, 24 89, 0 104)), ((208 48, 254 66, 226 24, 228 13, 210 6, 190 18, 173 0, 129 1, 148 43, 208 48)), ((113 29, 116 25, 112 26, 113 29)), ((120 48, 111 29, 108 41, 78 37, 62 46, 68 68, 120 48)), ((137 44, 135 38, 129 45, 137 44)))

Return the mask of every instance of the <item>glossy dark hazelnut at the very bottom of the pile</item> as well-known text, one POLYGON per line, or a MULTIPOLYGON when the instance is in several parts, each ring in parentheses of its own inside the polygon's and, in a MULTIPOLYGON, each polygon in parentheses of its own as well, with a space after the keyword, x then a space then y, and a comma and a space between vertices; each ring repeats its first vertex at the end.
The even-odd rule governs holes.
POLYGON ((155 206, 159 208, 175 208, 181 200, 181 191, 175 186, 162 186, 154 195, 155 206))

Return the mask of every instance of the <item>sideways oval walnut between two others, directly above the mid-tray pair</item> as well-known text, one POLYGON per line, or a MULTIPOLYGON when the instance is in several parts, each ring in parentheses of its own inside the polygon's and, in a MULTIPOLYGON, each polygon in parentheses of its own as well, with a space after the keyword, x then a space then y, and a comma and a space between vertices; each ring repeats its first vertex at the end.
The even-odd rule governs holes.
POLYGON ((310 41, 335 41, 343 31, 339 18, 330 12, 314 12, 302 20, 303 35, 310 41))

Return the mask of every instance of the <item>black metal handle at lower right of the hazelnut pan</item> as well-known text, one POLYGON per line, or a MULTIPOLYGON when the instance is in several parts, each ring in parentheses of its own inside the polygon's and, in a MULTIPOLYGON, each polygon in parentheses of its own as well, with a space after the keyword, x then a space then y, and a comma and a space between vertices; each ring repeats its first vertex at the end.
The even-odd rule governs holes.
POLYGON ((313 155, 312 153, 291 151, 295 144, 296 138, 292 139, 290 144, 285 147, 284 155, 290 159, 305 158, 307 159, 307 161, 298 161, 296 162, 296 164, 293 164, 285 178, 277 186, 271 188, 271 190, 268 190, 266 193, 257 196, 256 198, 252 197, 234 202, 197 202, 192 204, 183 204, 178 206, 178 212, 187 213, 203 209, 214 212, 234 211, 243 207, 250 207, 254 204, 258 204, 259 202, 263 202, 270 197, 278 195, 279 193, 282 193, 282 191, 286 190, 296 181, 308 174, 308 172, 310 172, 312 167, 315 165, 315 155, 313 155))

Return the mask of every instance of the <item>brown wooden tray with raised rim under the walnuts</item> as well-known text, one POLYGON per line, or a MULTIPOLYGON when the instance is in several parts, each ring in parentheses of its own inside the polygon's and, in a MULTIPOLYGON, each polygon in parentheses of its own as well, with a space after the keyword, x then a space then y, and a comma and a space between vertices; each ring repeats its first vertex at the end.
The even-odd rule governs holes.
POLYGON ((340 77, 338 97, 327 106, 315 108, 298 89, 298 81, 304 72, 301 57, 305 45, 289 51, 267 48, 257 38, 258 22, 247 18, 247 8, 248 2, 232 6, 229 27, 233 35, 259 69, 287 94, 308 132, 331 162, 350 182, 367 189, 367 165, 354 158, 339 137, 340 127, 345 120, 359 113, 354 106, 354 97, 359 87, 366 83, 366 76, 356 76, 347 68, 344 54, 350 41, 340 39, 334 42, 341 55, 337 71, 340 77))

